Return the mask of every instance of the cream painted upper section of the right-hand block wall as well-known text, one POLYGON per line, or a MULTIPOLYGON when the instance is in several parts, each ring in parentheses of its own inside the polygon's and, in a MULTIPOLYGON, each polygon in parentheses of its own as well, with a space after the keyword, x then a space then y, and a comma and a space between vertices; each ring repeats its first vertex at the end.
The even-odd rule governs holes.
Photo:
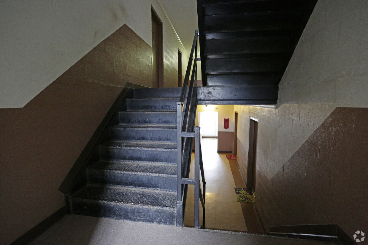
POLYGON ((240 167, 249 116, 259 119, 257 162, 271 179, 336 107, 368 107, 367 12, 367 1, 317 2, 280 82, 277 109, 235 106, 240 167))

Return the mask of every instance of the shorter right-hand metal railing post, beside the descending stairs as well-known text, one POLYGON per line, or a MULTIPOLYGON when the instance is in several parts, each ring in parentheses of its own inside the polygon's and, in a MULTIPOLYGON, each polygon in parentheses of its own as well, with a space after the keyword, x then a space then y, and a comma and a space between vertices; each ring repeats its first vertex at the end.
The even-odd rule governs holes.
POLYGON ((194 228, 199 228, 199 129, 194 127, 194 228))

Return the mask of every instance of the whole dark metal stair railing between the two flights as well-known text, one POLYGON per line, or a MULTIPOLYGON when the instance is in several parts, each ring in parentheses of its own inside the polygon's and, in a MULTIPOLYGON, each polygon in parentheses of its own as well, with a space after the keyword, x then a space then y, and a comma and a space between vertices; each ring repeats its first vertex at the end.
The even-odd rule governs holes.
POLYGON ((195 30, 192 49, 189 56, 187 71, 181 90, 180 100, 177 104, 177 223, 183 226, 185 201, 188 184, 194 185, 194 227, 199 228, 199 201, 203 209, 202 226, 205 226, 205 202, 206 202, 206 182, 203 171, 201 142, 199 127, 195 126, 195 115, 197 113, 197 62, 201 59, 197 57, 198 30, 195 30), (189 83, 190 73, 191 79, 189 83), (189 83, 189 86, 188 86, 189 83), (188 90, 188 91, 187 91, 188 90), (193 138, 195 141, 194 159, 194 179, 189 178, 191 163, 193 138), (202 188, 199 180, 199 172, 202 177, 202 188))

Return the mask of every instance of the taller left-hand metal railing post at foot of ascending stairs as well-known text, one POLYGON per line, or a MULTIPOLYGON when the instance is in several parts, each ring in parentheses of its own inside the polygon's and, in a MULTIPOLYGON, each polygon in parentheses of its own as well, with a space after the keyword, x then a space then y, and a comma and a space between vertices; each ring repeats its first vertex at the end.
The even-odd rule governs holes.
POLYGON ((177 148, 177 192, 178 201, 181 201, 181 106, 183 102, 176 102, 176 148, 177 148))

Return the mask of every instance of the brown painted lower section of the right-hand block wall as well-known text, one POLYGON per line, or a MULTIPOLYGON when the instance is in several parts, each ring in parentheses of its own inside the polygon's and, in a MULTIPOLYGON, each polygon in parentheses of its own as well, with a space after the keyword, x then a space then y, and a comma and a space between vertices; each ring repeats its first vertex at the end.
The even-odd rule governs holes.
POLYGON ((368 230, 367 132, 368 108, 336 108, 272 179, 257 167, 256 207, 266 230, 324 223, 350 236, 368 230))

